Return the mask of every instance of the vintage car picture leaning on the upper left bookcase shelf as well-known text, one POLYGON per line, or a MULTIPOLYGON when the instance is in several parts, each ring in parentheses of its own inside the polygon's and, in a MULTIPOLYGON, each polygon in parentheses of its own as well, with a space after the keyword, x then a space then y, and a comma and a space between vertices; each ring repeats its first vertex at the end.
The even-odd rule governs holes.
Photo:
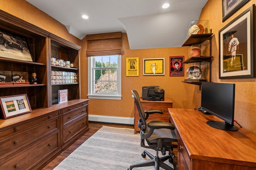
POLYGON ((0 47, 2 49, 0 51, 1 57, 23 61, 33 61, 30 55, 27 40, 23 37, 0 30, 0 47))

